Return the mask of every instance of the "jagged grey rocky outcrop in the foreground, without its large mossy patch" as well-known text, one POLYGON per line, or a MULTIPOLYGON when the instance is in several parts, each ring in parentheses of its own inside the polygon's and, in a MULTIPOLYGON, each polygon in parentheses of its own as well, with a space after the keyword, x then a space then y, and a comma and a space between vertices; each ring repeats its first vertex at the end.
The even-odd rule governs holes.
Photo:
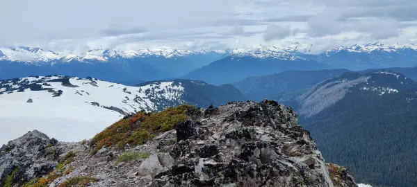
POLYGON ((297 114, 276 101, 188 109, 187 116, 145 144, 94 155, 89 141, 56 143, 28 132, 0 149, 0 184, 357 186, 345 168, 325 163, 297 114))

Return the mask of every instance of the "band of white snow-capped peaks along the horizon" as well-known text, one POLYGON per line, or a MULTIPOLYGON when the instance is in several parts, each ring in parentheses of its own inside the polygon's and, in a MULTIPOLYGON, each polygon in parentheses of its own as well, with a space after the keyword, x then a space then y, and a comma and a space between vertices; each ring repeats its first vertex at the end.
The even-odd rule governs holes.
MULTIPOLYGON (((252 56, 252 57, 273 57, 278 59, 300 59, 298 53, 308 54, 314 48, 313 44, 301 44, 299 42, 285 43, 278 45, 252 45, 243 48, 235 48, 228 50, 179 50, 172 48, 144 48, 139 50, 114 50, 114 49, 95 49, 85 53, 78 53, 76 51, 47 51, 42 48, 33 47, 0 47, 0 60, 8 60, 13 62, 51 62, 60 60, 62 62, 70 62, 71 60, 88 61, 97 60, 99 62, 106 62, 112 58, 135 58, 135 57, 186 57, 189 55, 199 55, 207 53, 218 53, 224 55, 236 56, 252 56)), ((373 43, 366 45, 354 46, 339 46, 331 48, 324 53, 331 55, 338 51, 348 51, 352 53, 372 53, 373 51, 396 52, 400 49, 411 49, 417 51, 416 44, 395 44, 387 45, 382 43, 373 43)))

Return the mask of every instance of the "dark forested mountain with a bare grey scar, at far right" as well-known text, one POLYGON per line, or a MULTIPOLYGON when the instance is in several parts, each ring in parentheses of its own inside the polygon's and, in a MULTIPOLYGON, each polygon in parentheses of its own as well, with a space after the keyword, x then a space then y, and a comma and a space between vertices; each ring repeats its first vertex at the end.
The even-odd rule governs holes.
POLYGON ((300 123, 329 161, 378 186, 417 183, 417 84, 392 71, 345 73, 298 100, 300 123))

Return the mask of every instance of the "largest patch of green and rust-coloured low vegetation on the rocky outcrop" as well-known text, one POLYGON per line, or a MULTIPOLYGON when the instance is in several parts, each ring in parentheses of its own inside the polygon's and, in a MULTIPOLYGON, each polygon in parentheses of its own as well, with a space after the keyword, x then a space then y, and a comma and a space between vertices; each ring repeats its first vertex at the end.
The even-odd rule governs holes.
POLYGON ((121 119, 106 130, 95 135, 90 141, 92 154, 104 146, 109 147, 117 145, 117 148, 123 149, 126 143, 129 145, 142 145, 154 138, 155 134, 173 130, 175 125, 189 119, 187 112, 194 108, 190 105, 181 105, 178 107, 169 107, 162 112, 138 112, 131 118, 121 119))

